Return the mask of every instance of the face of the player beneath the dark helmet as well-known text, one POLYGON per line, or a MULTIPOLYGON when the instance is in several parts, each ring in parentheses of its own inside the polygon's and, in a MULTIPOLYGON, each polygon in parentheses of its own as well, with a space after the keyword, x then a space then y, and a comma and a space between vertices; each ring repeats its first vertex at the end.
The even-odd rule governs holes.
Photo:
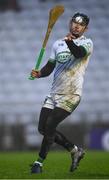
POLYGON ((79 23, 70 22, 70 32, 76 37, 80 37, 86 31, 87 27, 79 23))

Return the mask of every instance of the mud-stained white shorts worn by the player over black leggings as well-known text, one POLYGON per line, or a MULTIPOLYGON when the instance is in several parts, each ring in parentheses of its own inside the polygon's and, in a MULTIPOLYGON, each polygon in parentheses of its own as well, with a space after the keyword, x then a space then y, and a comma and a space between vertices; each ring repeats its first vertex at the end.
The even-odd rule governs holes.
POLYGON ((50 94, 45 98, 43 107, 54 109, 55 107, 62 108, 68 112, 73 112, 78 106, 81 97, 77 94, 63 95, 63 94, 50 94))

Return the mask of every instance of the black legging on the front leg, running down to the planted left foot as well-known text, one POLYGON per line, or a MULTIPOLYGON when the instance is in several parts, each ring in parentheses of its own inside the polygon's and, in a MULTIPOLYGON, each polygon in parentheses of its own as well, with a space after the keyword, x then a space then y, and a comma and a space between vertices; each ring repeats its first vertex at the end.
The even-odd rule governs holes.
POLYGON ((54 143, 57 125, 69 115, 69 112, 58 107, 54 108, 50 113, 46 121, 44 138, 39 152, 39 156, 42 159, 46 158, 51 145, 54 143))

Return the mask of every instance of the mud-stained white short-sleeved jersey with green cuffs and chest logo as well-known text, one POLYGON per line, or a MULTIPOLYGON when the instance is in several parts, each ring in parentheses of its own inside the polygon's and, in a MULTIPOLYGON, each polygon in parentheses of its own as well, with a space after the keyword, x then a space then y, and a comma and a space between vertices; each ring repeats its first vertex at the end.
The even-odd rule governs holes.
POLYGON ((91 39, 84 36, 73 40, 78 46, 83 46, 87 55, 84 58, 75 58, 64 40, 57 40, 52 47, 50 62, 56 62, 54 80, 51 93, 72 95, 82 94, 82 85, 85 69, 93 50, 91 39))

